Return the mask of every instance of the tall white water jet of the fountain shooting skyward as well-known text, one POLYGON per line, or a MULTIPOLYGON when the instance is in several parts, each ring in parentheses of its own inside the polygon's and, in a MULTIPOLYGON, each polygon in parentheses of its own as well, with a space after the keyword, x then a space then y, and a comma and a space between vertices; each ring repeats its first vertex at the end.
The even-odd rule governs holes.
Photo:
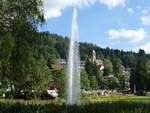
POLYGON ((74 9, 72 19, 71 40, 67 73, 67 104, 80 104, 80 57, 78 38, 77 10, 74 9))

